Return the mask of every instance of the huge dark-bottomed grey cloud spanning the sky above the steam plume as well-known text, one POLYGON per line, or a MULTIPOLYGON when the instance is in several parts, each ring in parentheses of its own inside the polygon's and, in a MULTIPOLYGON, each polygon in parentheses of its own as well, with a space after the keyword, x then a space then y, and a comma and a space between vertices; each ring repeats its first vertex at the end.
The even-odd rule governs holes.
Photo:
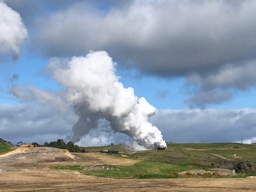
POLYGON ((255 1, 134 1, 104 12, 79 3, 40 20, 36 40, 50 56, 104 49, 118 63, 159 76, 203 74, 255 58, 255 7, 255 1))

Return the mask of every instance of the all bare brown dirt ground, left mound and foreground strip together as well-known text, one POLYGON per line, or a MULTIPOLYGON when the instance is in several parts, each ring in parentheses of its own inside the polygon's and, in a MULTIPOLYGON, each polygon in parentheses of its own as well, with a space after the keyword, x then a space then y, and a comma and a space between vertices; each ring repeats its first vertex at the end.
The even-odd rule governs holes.
POLYGON ((256 191, 256 178, 108 179, 52 165, 131 165, 138 160, 49 147, 0 155, 0 191, 256 191))

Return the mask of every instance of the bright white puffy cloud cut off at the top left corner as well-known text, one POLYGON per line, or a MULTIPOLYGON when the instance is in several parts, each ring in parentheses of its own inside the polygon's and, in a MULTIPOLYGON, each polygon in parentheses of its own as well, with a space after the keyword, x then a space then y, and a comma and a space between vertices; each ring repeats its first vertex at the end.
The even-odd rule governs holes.
POLYGON ((20 54, 20 45, 28 36, 19 13, 0 1, 0 55, 20 54))

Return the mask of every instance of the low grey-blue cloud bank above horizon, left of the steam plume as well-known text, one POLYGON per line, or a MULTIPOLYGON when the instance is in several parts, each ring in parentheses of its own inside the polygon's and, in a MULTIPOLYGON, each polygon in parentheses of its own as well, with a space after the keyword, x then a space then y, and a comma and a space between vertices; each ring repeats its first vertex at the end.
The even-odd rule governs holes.
POLYGON ((54 104, 0 104, 0 136, 5 140, 38 142, 67 139, 77 117, 54 104))

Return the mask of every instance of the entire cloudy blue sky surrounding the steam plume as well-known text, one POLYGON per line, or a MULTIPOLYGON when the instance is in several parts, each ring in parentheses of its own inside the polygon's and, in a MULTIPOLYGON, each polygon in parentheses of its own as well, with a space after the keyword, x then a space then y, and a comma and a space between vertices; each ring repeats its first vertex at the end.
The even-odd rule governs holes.
MULTIPOLYGON (((106 51, 173 142, 256 142, 256 1, 0 0, 0 138, 72 137, 79 116, 49 67, 106 51)), ((129 141, 98 126, 82 145, 129 141)))

